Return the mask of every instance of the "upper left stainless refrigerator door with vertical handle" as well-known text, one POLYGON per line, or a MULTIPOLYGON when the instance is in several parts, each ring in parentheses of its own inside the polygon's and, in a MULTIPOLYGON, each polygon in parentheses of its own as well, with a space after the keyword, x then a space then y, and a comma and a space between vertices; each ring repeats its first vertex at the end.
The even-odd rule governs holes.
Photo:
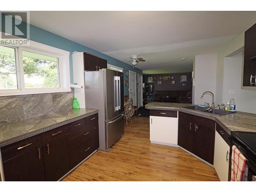
POLYGON ((112 119, 118 115, 117 102, 117 75, 116 71, 106 69, 106 119, 112 119))

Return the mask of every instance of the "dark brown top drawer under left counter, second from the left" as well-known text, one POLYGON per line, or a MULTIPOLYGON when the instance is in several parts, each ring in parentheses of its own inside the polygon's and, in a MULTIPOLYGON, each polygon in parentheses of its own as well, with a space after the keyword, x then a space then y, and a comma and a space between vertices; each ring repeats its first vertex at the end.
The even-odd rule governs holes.
POLYGON ((60 126, 54 130, 42 134, 42 144, 50 143, 58 138, 67 135, 67 126, 60 126))

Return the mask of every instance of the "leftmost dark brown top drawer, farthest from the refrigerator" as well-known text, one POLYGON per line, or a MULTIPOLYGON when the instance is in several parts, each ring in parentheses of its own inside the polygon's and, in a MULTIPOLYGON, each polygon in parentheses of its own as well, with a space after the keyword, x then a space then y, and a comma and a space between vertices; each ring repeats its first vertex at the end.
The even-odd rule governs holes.
POLYGON ((34 148, 40 147, 42 144, 41 135, 36 135, 22 141, 4 146, 1 148, 3 162, 18 155, 22 155, 34 148))

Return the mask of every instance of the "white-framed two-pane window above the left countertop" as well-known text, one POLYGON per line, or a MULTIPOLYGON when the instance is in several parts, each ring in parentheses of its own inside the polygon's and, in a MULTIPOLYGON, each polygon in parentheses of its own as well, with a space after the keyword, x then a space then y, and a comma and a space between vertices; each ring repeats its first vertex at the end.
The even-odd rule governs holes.
POLYGON ((34 41, 0 46, 0 96, 71 91, 69 54, 34 41))

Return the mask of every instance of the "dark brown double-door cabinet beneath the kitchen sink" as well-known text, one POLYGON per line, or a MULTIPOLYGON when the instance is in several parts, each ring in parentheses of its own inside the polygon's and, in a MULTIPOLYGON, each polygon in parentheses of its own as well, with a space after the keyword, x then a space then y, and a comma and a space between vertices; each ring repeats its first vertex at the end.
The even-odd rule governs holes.
POLYGON ((178 145, 214 164, 215 121, 179 112, 178 145))

